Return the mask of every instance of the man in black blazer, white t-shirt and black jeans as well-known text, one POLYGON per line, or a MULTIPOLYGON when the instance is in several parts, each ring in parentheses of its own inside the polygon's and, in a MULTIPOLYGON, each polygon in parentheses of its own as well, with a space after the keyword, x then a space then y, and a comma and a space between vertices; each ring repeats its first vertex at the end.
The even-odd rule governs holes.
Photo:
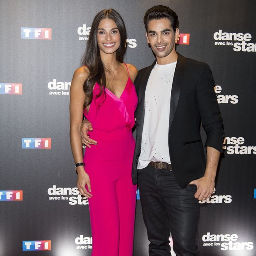
POLYGON ((156 61, 135 80, 139 103, 132 181, 139 185, 150 256, 170 255, 170 233, 176 256, 199 255, 198 200, 213 192, 224 139, 210 68, 175 50, 177 19, 166 6, 147 10, 146 37, 156 61))

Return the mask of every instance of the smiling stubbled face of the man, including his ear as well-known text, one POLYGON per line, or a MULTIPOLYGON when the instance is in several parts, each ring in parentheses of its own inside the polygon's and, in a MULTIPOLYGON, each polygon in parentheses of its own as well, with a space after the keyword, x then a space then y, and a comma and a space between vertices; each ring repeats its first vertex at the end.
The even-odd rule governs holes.
POLYGON ((147 31, 147 42, 158 58, 175 53, 174 45, 179 38, 179 29, 174 34, 169 19, 152 19, 148 23, 147 31))

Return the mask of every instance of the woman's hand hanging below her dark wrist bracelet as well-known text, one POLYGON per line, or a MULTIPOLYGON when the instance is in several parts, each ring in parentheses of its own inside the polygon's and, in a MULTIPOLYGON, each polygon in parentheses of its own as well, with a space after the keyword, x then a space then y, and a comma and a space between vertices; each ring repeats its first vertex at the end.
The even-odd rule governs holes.
POLYGON ((92 197, 91 192, 91 188, 90 188, 90 177, 89 175, 85 172, 84 167, 83 166, 78 166, 77 167, 77 188, 78 191, 80 192, 81 195, 83 196, 87 196, 88 198, 92 197), (89 192, 87 191, 87 189, 85 188, 85 186, 87 185, 87 188, 89 190, 89 192))

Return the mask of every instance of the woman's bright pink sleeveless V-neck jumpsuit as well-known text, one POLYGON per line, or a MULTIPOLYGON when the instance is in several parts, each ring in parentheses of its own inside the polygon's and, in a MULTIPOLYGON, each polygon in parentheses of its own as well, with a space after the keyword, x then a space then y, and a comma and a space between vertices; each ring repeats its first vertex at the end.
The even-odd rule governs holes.
POLYGON ((85 110, 93 127, 89 135, 98 142, 84 155, 93 195, 89 199, 92 256, 132 256, 136 204, 132 127, 138 99, 130 76, 120 98, 107 88, 97 98, 99 92, 96 83, 89 112, 85 110))

